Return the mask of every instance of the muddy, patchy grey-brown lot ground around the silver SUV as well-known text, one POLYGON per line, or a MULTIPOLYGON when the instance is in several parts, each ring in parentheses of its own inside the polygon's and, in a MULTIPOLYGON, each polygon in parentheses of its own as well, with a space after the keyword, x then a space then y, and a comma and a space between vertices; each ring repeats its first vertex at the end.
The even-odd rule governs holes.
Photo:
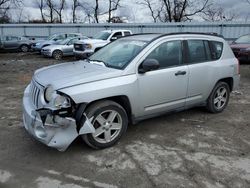
POLYGON ((0 188, 250 187, 250 64, 223 113, 168 114, 129 126, 112 148, 77 139, 59 152, 22 127, 22 95, 34 70, 73 60, 0 53, 0 188))

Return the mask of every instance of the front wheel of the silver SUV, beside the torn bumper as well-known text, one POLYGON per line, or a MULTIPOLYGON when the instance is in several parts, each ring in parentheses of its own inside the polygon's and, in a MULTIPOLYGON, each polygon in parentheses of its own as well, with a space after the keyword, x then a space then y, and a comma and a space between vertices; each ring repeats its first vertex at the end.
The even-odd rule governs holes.
POLYGON ((113 146, 125 134, 128 127, 128 116, 124 108, 113 101, 96 102, 86 110, 92 118, 96 132, 81 135, 85 143, 94 149, 113 146), (97 132, 98 131, 98 132, 97 132))

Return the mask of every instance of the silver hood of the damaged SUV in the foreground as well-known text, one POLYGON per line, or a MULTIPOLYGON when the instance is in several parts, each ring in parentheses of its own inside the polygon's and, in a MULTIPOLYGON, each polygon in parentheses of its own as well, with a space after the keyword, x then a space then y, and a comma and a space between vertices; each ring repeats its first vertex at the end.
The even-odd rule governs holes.
POLYGON ((62 89, 78 84, 118 77, 122 70, 108 68, 87 61, 62 63, 39 69, 34 79, 41 85, 52 85, 54 89, 62 89))

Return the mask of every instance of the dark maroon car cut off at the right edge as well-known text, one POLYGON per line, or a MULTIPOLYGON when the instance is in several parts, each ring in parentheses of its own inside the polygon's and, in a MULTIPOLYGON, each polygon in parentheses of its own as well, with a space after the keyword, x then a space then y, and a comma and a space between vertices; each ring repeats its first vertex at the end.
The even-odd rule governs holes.
POLYGON ((230 46, 240 62, 250 62, 250 34, 239 37, 230 46))

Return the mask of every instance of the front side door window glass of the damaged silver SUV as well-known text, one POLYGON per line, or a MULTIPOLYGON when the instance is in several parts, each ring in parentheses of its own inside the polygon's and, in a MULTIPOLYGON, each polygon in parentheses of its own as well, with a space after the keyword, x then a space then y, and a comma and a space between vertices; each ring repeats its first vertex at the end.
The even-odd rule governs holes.
POLYGON ((178 66, 182 63, 182 41, 169 41, 156 47, 146 59, 156 59, 160 68, 178 66))

